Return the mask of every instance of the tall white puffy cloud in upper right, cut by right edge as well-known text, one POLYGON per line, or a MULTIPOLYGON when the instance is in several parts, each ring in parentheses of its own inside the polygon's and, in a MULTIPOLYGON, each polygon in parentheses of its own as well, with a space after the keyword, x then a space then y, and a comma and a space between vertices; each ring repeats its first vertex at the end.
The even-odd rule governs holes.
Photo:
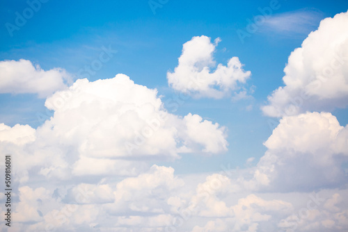
POLYGON ((348 13, 320 22, 300 48, 292 51, 284 69, 285 86, 269 96, 266 115, 281 117, 332 110, 348 102, 348 13))

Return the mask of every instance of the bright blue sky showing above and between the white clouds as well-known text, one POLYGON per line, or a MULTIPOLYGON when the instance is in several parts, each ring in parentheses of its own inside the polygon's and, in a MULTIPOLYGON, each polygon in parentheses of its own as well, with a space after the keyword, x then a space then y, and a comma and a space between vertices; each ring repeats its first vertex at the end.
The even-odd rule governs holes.
MULTIPOLYGON (((135 83, 157 88, 165 101, 175 94, 168 88, 166 72, 177 66, 182 44, 197 35, 207 35, 212 40, 219 37, 222 41, 216 51, 217 63, 226 65, 229 58, 238 56, 245 64, 244 69, 252 72, 248 86, 255 86, 254 99, 237 103, 230 99, 185 101, 176 114, 197 113, 227 126, 230 147, 226 154, 214 159, 185 156, 173 166, 180 166, 175 167, 177 172, 189 172, 192 162, 200 163, 198 171, 219 169, 221 163, 243 165, 246 158, 258 158, 264 152, 262 142, 271 134, 271 128, 267 123, 269 118, 260 112, 260 105, 267 95, 283 85, 283 68, 290 52, 301 46, 308 33, 319 26, 320 19, 348 10, 345 0, 280 0, 280 8, 272 15, 311 10, 320 17, 304 32, 290 36, 260 29, 242 43, 236 31, 245 30, 247 20, 260 15, 258 8, 269 6, 269 2, 169 0, 154 15, 148 0, 50 0, 42 3, 40 10, 10 37, 4 24, 15 24, 15 12, 22 14, 29 6, 26 1, 1 1, 0 60, 24 58, 45 70, 62 67, 77 75, 81 68, 98 58, 102 46, 110 46, 118 53, 88 79, 95 81, 123 73, 135 83), (247 105, 253 105, 253 110, 245 110, 247 105)), ((36 128, 40 125, 37 113, 45 114, 44 102, 45 99, 31 94, 0 94, 0 122, 36 128)), ((341 124, 348 123, 347 110, 336 110, 334 114, 341 124)))

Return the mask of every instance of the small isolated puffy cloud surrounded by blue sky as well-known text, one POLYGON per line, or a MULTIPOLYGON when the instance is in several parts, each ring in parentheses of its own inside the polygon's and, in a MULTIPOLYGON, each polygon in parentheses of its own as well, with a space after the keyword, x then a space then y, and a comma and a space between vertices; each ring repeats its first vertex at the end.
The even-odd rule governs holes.
POLYGON ((193 94, 195 97, 219 99, 237 91, 251 76, 244 71, 239 58, 232 57, 227 66, 216 65, 214 51, 220 39, 214 44, 205 35, 193 37, 182 46, 179 65, 174 72, 168 72, 168 84, 177 91, 193 94), (212 70, 215 68, 214 70, 212 70))

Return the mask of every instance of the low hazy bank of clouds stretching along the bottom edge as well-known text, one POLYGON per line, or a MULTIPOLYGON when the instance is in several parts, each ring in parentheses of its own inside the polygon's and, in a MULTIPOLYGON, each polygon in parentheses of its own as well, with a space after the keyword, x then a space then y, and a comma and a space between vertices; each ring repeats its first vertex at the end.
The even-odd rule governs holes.
MULTIPOLYGON (((228 176, 211 174, 205 181, 193 183, 196 191, 191 192, 192 183, 175 176, 173 168, 157 165, 136 177, 105 181, 72 185, 57 199, 52 194, 56 184, 51 190, 20 188, 20 202, 15 207, 20 223, 15 228, 290 232, 294 226, 300 231, 342 231, 348 226, 347 190, 248 194, 233 192, 235 180, 228 176)), ((65 188, 64 183, 59 188, 65 188)))

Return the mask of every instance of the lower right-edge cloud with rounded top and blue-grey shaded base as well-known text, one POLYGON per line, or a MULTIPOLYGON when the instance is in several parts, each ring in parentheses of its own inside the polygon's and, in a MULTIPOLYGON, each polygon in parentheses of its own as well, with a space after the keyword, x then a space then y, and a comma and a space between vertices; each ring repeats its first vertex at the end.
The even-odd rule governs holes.
POLYGON ((345 183, 348 126, 331 113, 306 113, 280 119, 248 188, 315 190, 345 183))

